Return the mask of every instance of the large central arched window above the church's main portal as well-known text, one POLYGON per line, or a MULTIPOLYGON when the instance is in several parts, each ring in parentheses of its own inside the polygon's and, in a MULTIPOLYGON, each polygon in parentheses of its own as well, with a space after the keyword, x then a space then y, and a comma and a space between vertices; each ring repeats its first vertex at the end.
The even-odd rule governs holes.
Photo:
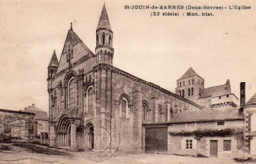
POLYGON ((68 107, 73 108, 77 103, 77 85, 75 78, 71 78, 68 82, 68 107))

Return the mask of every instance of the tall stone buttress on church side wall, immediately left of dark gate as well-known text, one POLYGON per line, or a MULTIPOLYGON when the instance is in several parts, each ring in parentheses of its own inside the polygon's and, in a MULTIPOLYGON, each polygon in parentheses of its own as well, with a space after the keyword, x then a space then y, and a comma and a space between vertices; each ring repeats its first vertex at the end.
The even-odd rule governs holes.
POLYGON ((133 148, 135 152, 142 152, 142 93, 133 94, 133 148))

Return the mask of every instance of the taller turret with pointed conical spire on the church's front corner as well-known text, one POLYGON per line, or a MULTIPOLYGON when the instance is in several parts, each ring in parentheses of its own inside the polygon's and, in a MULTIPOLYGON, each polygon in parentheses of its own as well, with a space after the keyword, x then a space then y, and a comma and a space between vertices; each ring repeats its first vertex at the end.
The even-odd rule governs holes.
POLYGON ((105 4, 96 29, 96 64, 113 64, 113 32, 110 27, 105 4))

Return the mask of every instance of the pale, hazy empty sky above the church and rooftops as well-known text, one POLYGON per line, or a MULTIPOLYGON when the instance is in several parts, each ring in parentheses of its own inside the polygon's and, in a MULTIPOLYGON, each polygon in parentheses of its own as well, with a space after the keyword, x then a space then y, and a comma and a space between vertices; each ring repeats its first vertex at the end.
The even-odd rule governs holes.
POLYGON ((205 87, 230 79, 237 97, 240 82, 246 82, 247 100, 256 93, 256 1, 0 0, 1 109, 21 110, 33 103, 48 111, 47 67, 54 49, 59 59, 72 22, 94 52, 104 3, 114 32, 114 66, 172 92, 192 67, 205 87), (152 10, 127 10, 124 5, 252 9, 214 11, 213 17, 151 17, 152 10))

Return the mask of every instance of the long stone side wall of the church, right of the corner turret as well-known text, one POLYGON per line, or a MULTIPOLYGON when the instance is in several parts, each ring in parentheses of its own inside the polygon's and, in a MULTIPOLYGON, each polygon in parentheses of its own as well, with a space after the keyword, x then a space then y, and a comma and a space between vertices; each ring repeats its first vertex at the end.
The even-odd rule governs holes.
POLYGON ((160 122, 167 122, 173 112, 183 110, 198 110, 199 106, 184 100, 170 92, 162 91, 160 87, 150 82, 138 80, 120 70, 113 72, 112 110, 114 123, 120 134, 120 151, 142 152, 142 123, 143 102, 147 104, 149 112, 148 123, 157 122, 158 108, 161 108, 160 122), (121 112, 122 98, 128 101, 128 116, 123 118, 121 112))

